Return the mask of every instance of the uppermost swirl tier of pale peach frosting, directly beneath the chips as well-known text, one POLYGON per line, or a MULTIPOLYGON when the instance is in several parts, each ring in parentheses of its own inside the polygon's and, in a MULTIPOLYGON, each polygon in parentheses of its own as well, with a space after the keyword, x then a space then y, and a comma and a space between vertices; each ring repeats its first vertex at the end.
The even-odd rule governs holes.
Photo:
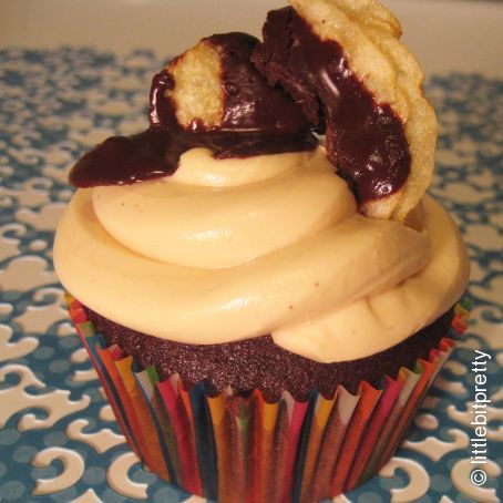
POLYGON ((239 163, 195 148, 172 177, 96 187, 93 207, 119 243, 144 257, 223 268, 340 223, 356 204, 321 148, 239 163))

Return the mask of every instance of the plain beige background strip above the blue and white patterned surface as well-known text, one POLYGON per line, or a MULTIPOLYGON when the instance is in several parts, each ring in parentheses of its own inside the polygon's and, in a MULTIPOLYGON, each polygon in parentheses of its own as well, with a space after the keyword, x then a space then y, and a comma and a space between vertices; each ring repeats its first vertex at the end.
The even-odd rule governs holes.
MULTIPOLYGON (((427 74, 503 76, 503 3, 383 0, 427 74)), ((0 47, 93 45, 120 53, 176 55, 202 37, 258 35, 266 12, 286 0, 0 0, 0 47)))

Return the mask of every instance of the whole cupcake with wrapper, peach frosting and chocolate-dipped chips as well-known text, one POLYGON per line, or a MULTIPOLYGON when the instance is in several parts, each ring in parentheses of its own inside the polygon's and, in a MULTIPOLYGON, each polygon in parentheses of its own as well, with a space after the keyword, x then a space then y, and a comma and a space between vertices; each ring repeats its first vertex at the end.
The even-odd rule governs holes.
POLYGON ((263 35, 154 76, 148 130, 72 168, 54 266, 153 472, 314 502, 398 448, 464 330, 469 266, 424 194, 437 122, 394 17, 292 0, 263 35))

